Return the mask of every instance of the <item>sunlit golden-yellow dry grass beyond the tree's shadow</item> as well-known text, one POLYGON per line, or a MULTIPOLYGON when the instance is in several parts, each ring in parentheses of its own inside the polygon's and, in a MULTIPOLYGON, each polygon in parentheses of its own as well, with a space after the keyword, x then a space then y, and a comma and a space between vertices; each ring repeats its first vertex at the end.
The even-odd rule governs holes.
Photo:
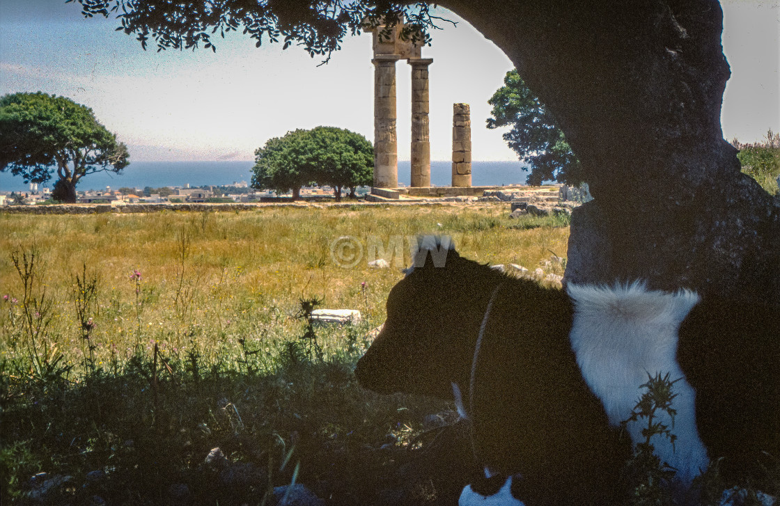
MULTIPOLYGON (((181 351, 195 337, 222 353, 225 346, 235 348, 240 336, 295 334, 297 301, 311 295, 325 306, 359 309, 380 324, 385 295, 402 274, 371 269, 367 257, 353 268, 339 267, 330 246, 342 235, 365 247, 369 236, 388 242, 398 235, 450 234, 466 257, 530 268, 551 250, 563 255, 568 237, 567 228, 512 229, 516 221, 491 207, 2 215, 0 226, 2 251, 37 251, 36 274, 53 304, 53 333, 76 368, 83 361, 83 318, 92 318, 98 363, 110 359, 112 350, 127 359, 152 340, 181 351), (93 313, 77 314, 70 294, 77 277, 87 275, 84 269, 101 282, 94 287, 93 313)), ((408 251, 404 262, 410 263, 408 251)), ((9 254, 0 256, 0 286, 20 296, 9 254)), ((7 341, 4 336, 3 345, 7 341)))

